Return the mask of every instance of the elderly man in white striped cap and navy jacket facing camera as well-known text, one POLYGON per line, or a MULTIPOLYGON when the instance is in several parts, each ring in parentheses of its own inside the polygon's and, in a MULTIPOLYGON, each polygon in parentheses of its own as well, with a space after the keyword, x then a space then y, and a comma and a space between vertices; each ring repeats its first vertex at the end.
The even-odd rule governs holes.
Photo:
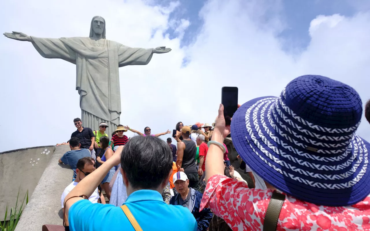
POLYGON ((194 188, 188 188, 188 176, 186 176, 186 174, 182 171, 178 171, 174 174, 173 182, 178 194, 171 198, 169 204, 182 205, 185 208, 188 208, 189 211, 194 215, 196 222, 198 222, 197 231, 207 230, 213 214, 209 208, 205 208, 199 212, 203 194, 199 191, 196 191, 194 188))

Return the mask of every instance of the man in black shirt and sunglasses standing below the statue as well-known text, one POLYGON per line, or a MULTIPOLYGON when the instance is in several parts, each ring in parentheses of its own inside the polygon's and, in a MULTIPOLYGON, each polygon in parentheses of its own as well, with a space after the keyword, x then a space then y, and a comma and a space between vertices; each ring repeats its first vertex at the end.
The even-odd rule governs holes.
POLYGON ((75 118, 73 120, 74 126, 76 126, 77 130, 72 133, 72 137, 77 137, 80 140, 80 148, 89 149, 90 152, 94 150, 94 142, 95 142, 95 136, 94 133, 92 133, 91 128, 84 128, 82 126, 82 121, 80 118, 75 118))

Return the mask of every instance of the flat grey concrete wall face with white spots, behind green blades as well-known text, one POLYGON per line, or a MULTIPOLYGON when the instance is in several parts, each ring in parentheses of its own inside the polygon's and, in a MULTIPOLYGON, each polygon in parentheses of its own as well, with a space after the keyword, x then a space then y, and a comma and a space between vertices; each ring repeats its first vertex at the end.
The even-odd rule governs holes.
POLYGON ((54 150, 54 146, 44 146, 0 153, 0 221, 4 220, 7 203, 9 208, 15 207, 18 191, 20 202, 27 190, 31 197, 54 150))

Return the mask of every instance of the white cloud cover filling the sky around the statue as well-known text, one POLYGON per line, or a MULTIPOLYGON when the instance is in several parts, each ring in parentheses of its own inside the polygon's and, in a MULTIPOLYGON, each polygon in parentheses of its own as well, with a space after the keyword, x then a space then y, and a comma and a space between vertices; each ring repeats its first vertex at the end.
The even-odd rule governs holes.
MULTIPOLYGON (((369 12, 313 18, 307 28, 309 46, 293 56, 282 50, 282 40, 276 37, 284 28, 279 12, 260 1, 206 4, 200 13, 204 19, 200 34, 182 48, 181 33, 174 39, 162 35, 169 27, 184 31, 192 23, 191 18, 170 20, 174 8, 181 7, 177 1, 167 7, 138 0, 54 4, 7 1, 1 10, 6 22, 0 29, 37 37, 88 36, 92 16, 101 15, 110 40, 131 47, 172 48, 169 54, 155 54, 146 66, 120 68, 121 123, 134 129, 150 126, 152 133, 159 133, 174 129, 178 121, 212 123, 222 86, 238 86, 243 103, 277 96, 290 80, 304 74, 337 79, 353 86, 363 102, 370 98, 369 12), (186 67, 182 67, 184 57, 190 60, 186 67)), ((73 118, 81 116, 75 66, 41 57, 27 42, 2 38, 0 51, 0 151, 67 141, 75 130, 73 118)), ((368 126, 363 119, 359 134, 370 140, 368 126)))

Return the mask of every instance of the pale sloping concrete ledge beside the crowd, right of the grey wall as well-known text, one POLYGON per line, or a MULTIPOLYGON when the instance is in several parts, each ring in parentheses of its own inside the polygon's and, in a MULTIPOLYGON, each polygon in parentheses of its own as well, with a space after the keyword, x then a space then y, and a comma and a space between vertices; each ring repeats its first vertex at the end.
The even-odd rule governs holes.
POLYGON ((44 224, 63 224, 61 195, 72 182, 73 170, 68 165, 59 164, 58 159, 68 150, 70 147, 67 145, 56 147, 23 211, 16 231, 39 231, 44 224))

